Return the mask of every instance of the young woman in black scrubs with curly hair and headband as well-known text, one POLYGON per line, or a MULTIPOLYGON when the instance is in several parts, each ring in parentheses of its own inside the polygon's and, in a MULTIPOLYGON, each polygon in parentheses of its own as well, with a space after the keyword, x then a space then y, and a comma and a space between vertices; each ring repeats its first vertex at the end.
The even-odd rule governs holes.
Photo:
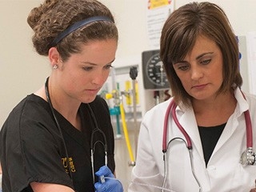
POLYGON ((97 96, 118 46, 113 15, 95 0, 46 0, 27 22, 52 70, 2 126, 2 190, 122 191, 108 106, 97 96))

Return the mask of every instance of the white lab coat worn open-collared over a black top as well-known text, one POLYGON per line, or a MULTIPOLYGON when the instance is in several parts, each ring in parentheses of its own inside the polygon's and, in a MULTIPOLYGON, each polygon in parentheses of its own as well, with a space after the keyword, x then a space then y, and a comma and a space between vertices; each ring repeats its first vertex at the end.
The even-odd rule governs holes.
MULTIPOLYGON (((243 112, 248 109, 253 127, 253 147, 254 151, 256 150, 256 97, 246 94, 245 100, 240 90, 236 89, 234 93, 238 104, 218 139, 207 168, 194 111, 182 111, 179 107, 176 109, 178 121, 190 135, 192 141, 194 172, 200 182, 202 192, 249 192, 255 187, 256 165, 242 166, 239 162, 242 152, 246 150, 246 122, 243 112)), ((136 166, 132 170, 129 192, 162 191, 158 188, 162 187, 164 175, 162 132, 169 103, 170 100, 154 106, 142 120, 138 137, 136 166)), ((186 141, 173 119, 169 119, 167 142, 175 137, 183 138, 186 141)), ((191 171, 190 154, 186 143, 178 139, 174 140, 170 143, 166 155, 167 176, 164 188, 168 190, 163 191, 199 191, 191 171)))

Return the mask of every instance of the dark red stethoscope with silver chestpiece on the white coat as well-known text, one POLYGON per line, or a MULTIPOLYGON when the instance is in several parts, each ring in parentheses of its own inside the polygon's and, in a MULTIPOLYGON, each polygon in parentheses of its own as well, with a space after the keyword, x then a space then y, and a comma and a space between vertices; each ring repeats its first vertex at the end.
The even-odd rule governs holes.
MULTIPOLYGON (((164 159, 165 159, 165 154, 166 154, 167 146, 168 146, 168 144, 167 144, 167 129, 168 129, 168 119, 169 119, 170 114, 171 114, 172 118, 174 119, 175 124, 178 126, 178 129, 182 132, 182 134, 186 138, 186 146, 187 146, 188 150, 192 150, 192 142, 191 142, 190 136, 186 133, 186 130, 184 130, 182 125, 178 122, 178 118, 175 113, 176 107, 177 107, 177 105, 173 99, 170 102, 170 104, 166 110, 164 126, 163 126, 163 137, 162 137, 162 153, 164 154, 164 159)), ((253 133, 252 133, 253 130, 252 130, 252 125, 251 125, 249 110, 246 110, 244 112, 244 115, 245 115, 245 120, 246 120, 246 147, 247 147, 247 149, 242 153, 240 162, 241 162, 242 166, 247 166, 247 165, 254 165, 254 163, 256 162, 256 157, 255 157, 255 153, 253 151, 253 133)))

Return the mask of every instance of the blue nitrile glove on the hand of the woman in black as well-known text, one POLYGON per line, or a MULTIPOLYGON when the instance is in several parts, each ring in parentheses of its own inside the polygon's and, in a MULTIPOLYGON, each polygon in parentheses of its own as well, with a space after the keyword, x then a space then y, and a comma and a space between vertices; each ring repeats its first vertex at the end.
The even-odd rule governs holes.
POLYGON ((96 192, 123 192, 122 183, 114 177, 114 174, 107 166, 102 166, 95 174, 98 177, 102 175, 105 177, 105 182, 96 182, 94 184, 96 192))

